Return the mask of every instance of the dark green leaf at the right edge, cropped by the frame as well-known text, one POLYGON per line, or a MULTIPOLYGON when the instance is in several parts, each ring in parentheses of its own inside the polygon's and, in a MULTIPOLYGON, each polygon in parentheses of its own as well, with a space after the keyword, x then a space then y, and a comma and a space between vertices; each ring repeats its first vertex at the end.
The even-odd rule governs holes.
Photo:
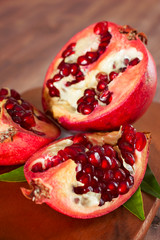
POLYGON ((157 182, 155 176, 153 175, 149 165, 147 166, 145 176, 141 183, 142 191, 156 197, 160 198, 160 185, 157 182))

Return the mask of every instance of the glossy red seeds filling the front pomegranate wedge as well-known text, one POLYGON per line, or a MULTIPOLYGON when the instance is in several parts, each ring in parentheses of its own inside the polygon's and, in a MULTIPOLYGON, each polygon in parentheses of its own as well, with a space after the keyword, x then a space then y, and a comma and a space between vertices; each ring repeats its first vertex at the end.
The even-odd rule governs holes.
MULTIPOLYGON (((76 179, 83 186, 73 187, 73 191, 76 194, 100 193, 99 206, 129 191, 134 184, 134 177, 123 166, 121 156, 113 146, 93 145, 84 134, 73 136, 72 141, 72 145, 59 150, 56 156, 46 159, 43 166, 41 162, 34 164, 31 171, 43 172, 68 159, 74 160, 77 164, 76 179)), ((125 162, 130 166, 135 162, 135 149, 141 151, 145 144, 143 133, 136 133, 131 125, 122 127, 122 137, 118 146, 125 162)))

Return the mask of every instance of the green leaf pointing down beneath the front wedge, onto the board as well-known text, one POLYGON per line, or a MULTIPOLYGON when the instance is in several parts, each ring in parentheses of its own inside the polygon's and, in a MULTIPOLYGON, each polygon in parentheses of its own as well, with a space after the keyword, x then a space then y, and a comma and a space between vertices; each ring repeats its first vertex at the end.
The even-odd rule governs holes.
POLYGON ((123 206, 128 209, 131 213, 137 216, 140 220, 145 220, 144 209, 143 209, 143 199, 141 188, 132 195, 132 197, 123 204, 123 206))

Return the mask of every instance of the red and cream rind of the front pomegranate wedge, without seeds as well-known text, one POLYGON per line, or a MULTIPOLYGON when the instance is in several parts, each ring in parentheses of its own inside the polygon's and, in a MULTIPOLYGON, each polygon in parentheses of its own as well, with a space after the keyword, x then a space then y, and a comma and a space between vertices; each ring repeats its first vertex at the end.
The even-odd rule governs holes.
MULTIPOLYGON (((95 143, 99 143, 101 138, 103 138, 102 143, 114 145, 115 142, 117 142, 116 132, 114 132, 113 136, 112 133, 93 133, 93 136, 92 134, 86 135, 90 139, 94 140, 95 143), (109 138, 107 137, 107 134, 109 135, 109 138)), ((76 163, 71 159, 57 165, 54 168, 48 169, 47 172, 45 171, 35 173, 31 171, 33 163, 48 154, 49 150, 47 148, 43 148, 39 152, 35 153, 26 162, 24 166, 24 174, 27 182, 29 183, 31 188, 34 188, 36 186, 38 192, 34 192, 35 188, 31 190, 23 188, 22 192, 26 197, 32 199, 37 204, 46 203, 51 208, 74 218, 86 219, 105 215, 123 205, 135 193, 140 183, 142 182, 147 167, 149 146, 151 140, 151 136, 149 133, 146 133, 145 136, 147 139, 145 148, 141 152, 137 150, 135 152, 136 157, 134 166, 133 187, 130 188, 130 190, 126 194, 119 195, 117 198, 112 199, 111 202, 106 202, 103 206, 97 205, 86 207, 82 205, 77 205, 73 201, 73 199, 75 199, 76 196, 79 195, 76 195, 72 189, 76 176, 76 163), (41 189, 45 190, 45 192, 42 192, 41 189), (39 195, 39 192, 41 192, 42 194, 39 195), (35 197, 34 193, 38 193, 38 195, 35 197)), ((52 146, 56 145, 56 143, 60 141, 61 140, 56 141, 54 144, 50 144, 49 148, 51 149, 52 146)))

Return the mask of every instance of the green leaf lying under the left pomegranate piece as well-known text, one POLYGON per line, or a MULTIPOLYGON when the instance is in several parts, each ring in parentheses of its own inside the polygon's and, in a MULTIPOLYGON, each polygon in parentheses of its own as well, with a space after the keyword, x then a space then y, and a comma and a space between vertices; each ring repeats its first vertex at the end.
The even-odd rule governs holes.
POLYGON ((23 166, 16 168, 10 172, 0 175, 0 181, 2 182, 26 182, 23 166))

